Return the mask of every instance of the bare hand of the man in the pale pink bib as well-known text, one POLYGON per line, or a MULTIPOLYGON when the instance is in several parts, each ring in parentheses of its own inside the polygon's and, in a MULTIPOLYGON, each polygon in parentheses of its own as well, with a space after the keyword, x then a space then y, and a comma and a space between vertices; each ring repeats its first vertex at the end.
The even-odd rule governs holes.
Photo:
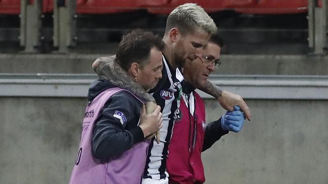
POLYGON ((160 106, 157 106, 154 112, 150 114, 146 114, 146 108, 142 106, 139 127, 145 138, 150 139, 155 136, 155 133, 162 127, 161 122, 162 113, 160 112, 160 106))

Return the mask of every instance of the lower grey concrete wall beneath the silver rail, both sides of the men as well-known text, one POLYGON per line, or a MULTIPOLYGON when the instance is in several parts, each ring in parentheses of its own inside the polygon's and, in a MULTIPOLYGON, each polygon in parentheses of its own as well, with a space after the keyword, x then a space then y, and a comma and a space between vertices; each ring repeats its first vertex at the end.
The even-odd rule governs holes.
MULTIPOLYGON (((203 153, 206 183, 328 183, 328 101, 247 100, 252 121, 203 153)), ((68 183, 85 98, 0 98, 0 183, 68 183)), ((205 100, 207 120, 224 111, 205 100)))

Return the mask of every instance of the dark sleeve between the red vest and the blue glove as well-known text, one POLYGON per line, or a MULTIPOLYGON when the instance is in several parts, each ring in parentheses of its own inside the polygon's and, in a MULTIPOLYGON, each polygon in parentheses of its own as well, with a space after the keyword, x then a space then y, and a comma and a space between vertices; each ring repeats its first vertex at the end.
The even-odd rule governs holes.
POLYGON ((225 131, 221 127, 221 118, 217 121, 213 121, 206 126, 205 137, 202 151, 210 148, 214 142, 219 140, 223 135, 228 134, 229 131, 225 131))

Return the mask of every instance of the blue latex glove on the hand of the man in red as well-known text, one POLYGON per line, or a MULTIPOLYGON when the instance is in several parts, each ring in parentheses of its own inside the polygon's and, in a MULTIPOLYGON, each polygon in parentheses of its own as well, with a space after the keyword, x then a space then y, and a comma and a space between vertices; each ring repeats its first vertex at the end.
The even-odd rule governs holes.
POLYGON ((244 115, 238 106, 234 106, 234 111, 227 111, 227 113, 221 117, 221 127, 226 131, 239 132, 244 122, 244 115))

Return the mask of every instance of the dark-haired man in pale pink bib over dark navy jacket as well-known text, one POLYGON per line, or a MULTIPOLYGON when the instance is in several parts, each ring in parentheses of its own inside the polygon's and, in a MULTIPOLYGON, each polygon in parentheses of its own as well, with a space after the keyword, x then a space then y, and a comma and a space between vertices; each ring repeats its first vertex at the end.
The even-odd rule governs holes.
MULTIPOLYGON (((123 36, 117 62, 144 90, 161 78, 163 41, 151 32, 123 36)), ((160 107, 146 114, 129 91, 100 78, 89 88, 71 184, 141 182, 150 138, 161 128, 160 107)))

